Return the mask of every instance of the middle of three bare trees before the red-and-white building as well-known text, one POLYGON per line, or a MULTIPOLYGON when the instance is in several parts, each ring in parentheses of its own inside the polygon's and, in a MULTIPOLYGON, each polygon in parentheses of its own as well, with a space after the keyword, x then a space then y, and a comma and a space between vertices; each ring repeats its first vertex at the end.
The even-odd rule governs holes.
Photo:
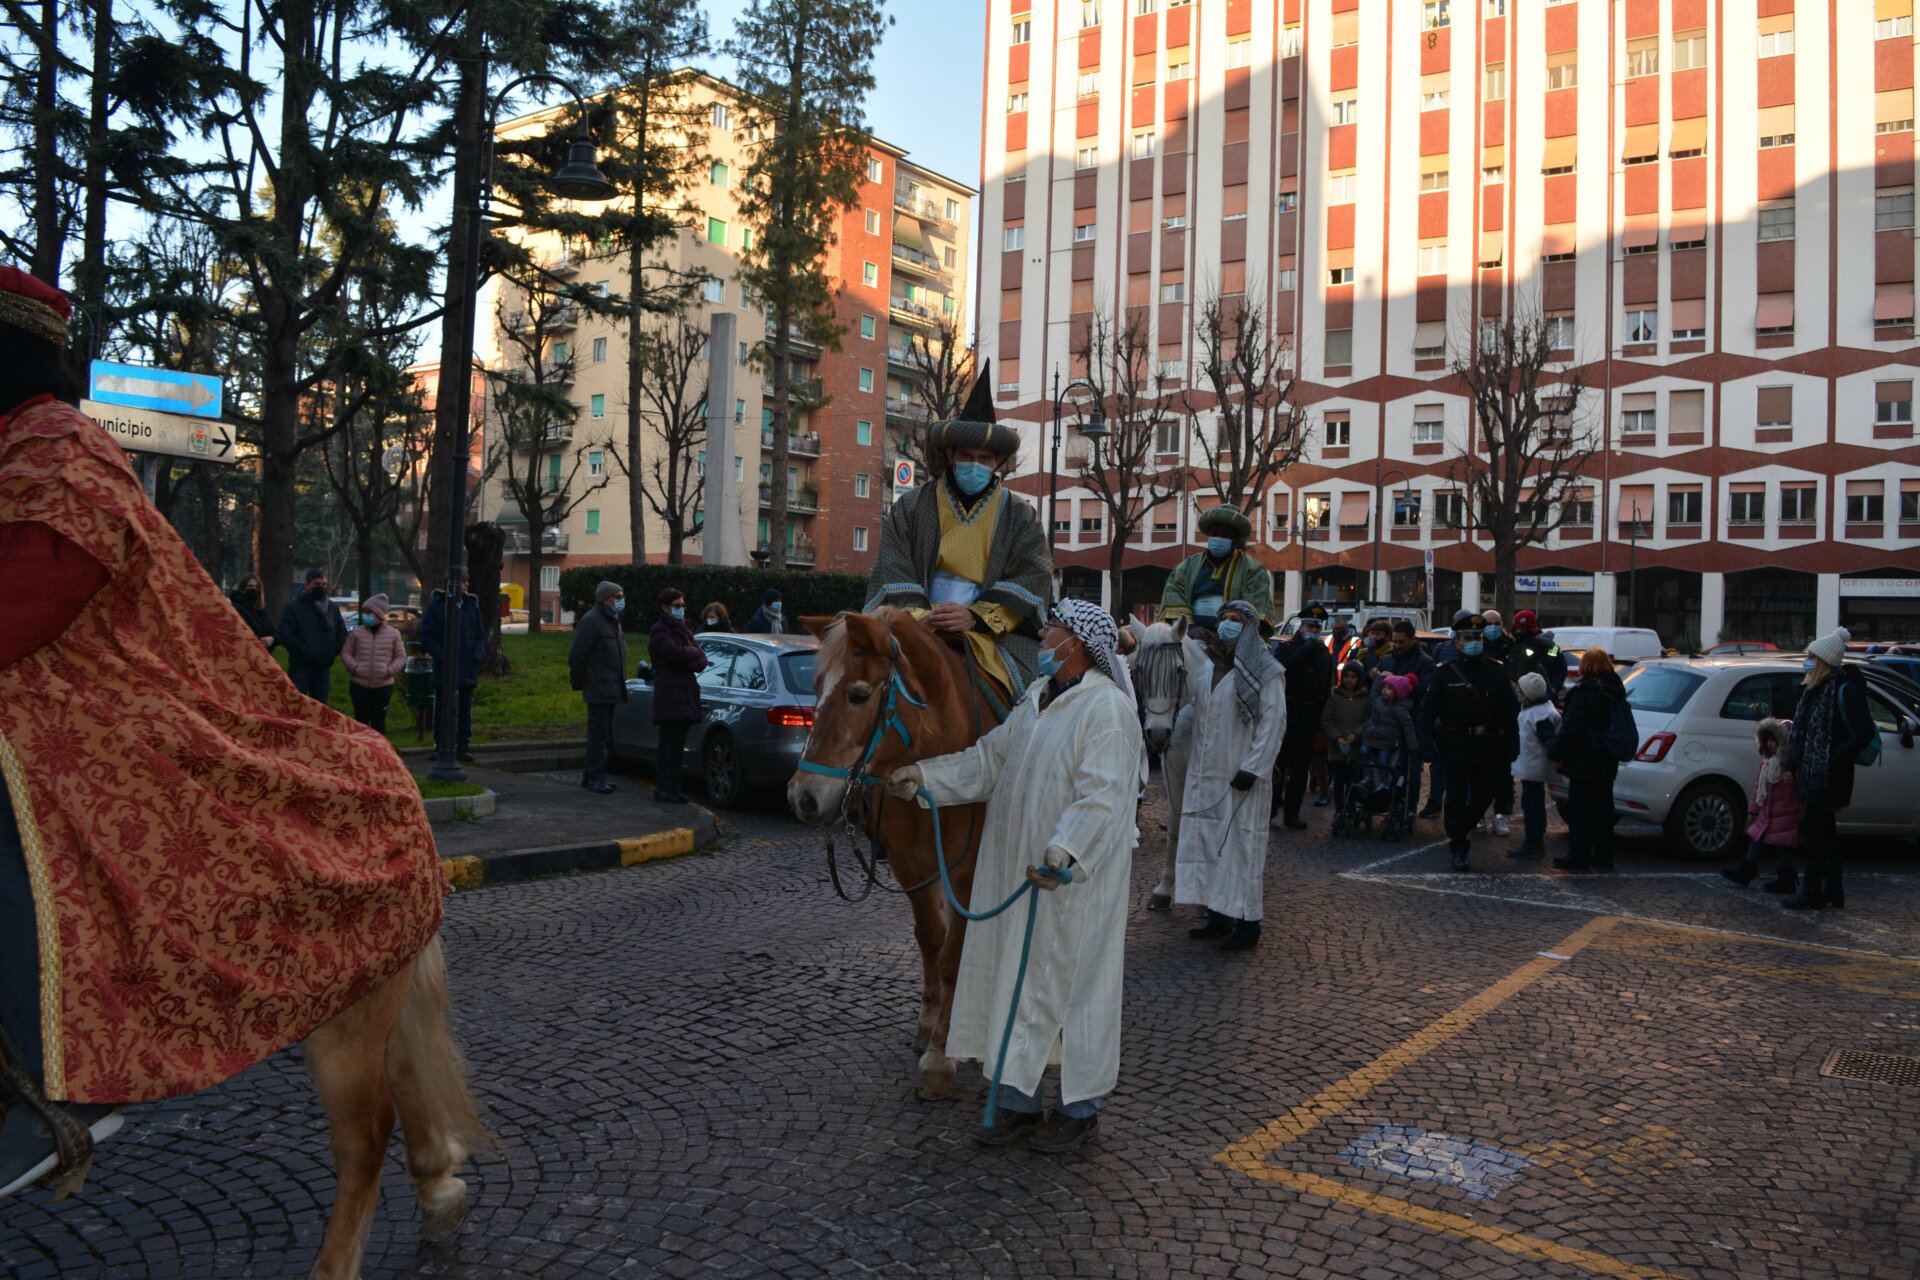
POLYGON ((1219 501, 1260 528, 1267 486, 1308 445, 1308 415, 1294 403, 1292 340, 1273 330, 1252 294, 1200 303, 1194 338, 1198 393, 1183 397, 1187 418, 1219 501))

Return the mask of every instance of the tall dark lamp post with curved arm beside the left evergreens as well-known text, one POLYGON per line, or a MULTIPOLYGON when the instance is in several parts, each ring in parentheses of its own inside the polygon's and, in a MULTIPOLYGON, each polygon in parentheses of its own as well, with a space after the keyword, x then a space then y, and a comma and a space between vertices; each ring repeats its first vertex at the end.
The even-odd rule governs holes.
MULTIPOLYGON (((486 59, 482 56, 480 63, 480 84, 486 84, 486 59)), ((455 743, 457 723, 459 723, 459 700, 461 700, 461 660, 459 660, 459 641, 461 641, 461 578, 465 574, 465 541, 467 541, 467 434, 470 428, 468 418, 472 416, 472 349, 474 349, 474 311, 480 303, 480 249, 482 238, 486 236, 486 207, 493 200, 493 130, 497 127, 499 104, 515 88, 534 83, 557 84, 559 88, 572 94, 572 102, 578 107, 584 94, 563 81, 557 75, 532 73, 511 81, 497 94, 488 94, 480 107, 480 165, 474 169, 474 186, 470 192, 453 192, 453 211, 455 217, 465 215, 467 223, 467 263, 465 278, 461 280, 461 315, 459 315, 459 351, 463 353, 459 376, 453 380, 453 449, 447 457, 447 466, 451 468, 447 476, 447 514, 442 516, 451 524, 447 537, 447 612, 442 624, 442 670, 440 676, 440 706, 434 712, 434 733, 440 739, 434 750, 434 766, 426 775, 440 783, 465 781, 467 773, 459 764, 459 743, 455 743), (465 198, 465 207, 461 205, 465 198)), ((559 173, 547 178, 547 190, 563 200, 612 200, 614 184, 607 180, 607 175, 599 171, 599 148, 586 134, 586 121, 580 125, 580 136, 574 138, 566 148, 566 163, 561 165, 559 173)), ((440 370, 440 390, 445 391, 447 386, 445 368, 440 370)), ((540 608, 540 583, 534 583, 534 608, 540 608)))

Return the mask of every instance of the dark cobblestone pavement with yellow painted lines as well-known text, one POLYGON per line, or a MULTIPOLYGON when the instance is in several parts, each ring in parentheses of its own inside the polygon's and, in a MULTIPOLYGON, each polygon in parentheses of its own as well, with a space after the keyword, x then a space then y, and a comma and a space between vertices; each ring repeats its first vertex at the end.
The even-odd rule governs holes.
MULTIPOLYGON (((1158 793, 1154 793, 1158 796, 1158 793)), ((1571 879, 1277 839, 1252 954, 1129 921, 1121 1084, 1068 1157, 910 1094, 902 902, 847 906, 756 814, 716 856, 463 892, 459 1025, 505 1146, 451 1245, 396 1146, 369 1278, 1655 1276, 1912 1280, 1920 852, 1799 915, 1630 841, 1571 879)), ((1135 865, 1158 875, 1158 819, 1135 865)), ((332 1194, 296 1054, 140 1107, 86 1197, 0 1205, 0 1274, 303 1274, 332 1194)))

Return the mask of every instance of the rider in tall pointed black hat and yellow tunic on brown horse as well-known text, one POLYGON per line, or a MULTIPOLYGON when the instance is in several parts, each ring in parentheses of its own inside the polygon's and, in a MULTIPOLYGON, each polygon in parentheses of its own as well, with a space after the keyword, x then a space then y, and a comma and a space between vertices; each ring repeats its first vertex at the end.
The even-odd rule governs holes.
POLYGON ((1018 432, 995 420, 993 363, 983 361, 960 416, 927 434, 939 476, 899 499, 879 526, 864 610, 895 604, 948 645, 966 645, 1000 718, 1033 681, 1052 595, 1041 518, 1002 484, 1018 451, 1018 432))

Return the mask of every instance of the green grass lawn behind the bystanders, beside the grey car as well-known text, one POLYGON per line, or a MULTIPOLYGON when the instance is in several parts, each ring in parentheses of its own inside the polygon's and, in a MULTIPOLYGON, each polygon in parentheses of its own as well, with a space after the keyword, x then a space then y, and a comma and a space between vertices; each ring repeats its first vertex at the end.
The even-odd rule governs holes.
MULTIPOLYGON (((505 679, 480 677, 480 687, 474 691, 474 741, 528 743, 586 737, 586 704, 566 681, 566 651, 574 643, 574 633, 501 635, 499 643, 513 664, 513 674, 505 679)), ((647 658, 645 635, 628 635, 626 647, 630 662, 647 658)), ((284 649, 276 649, 275 658, 282 668, 286 666, 284 649)), ((432 743, 432 725, 426 727, 424 735, 415 733, 415 712, 405 700, 405 681, 407 677, 401 676, 394 685, 394 700, 386 712, 386 737, 394 747, 432 743)), ((348 683, 346 668, 336 662, 328 704, 342 716, 353 714, 348 683)))

